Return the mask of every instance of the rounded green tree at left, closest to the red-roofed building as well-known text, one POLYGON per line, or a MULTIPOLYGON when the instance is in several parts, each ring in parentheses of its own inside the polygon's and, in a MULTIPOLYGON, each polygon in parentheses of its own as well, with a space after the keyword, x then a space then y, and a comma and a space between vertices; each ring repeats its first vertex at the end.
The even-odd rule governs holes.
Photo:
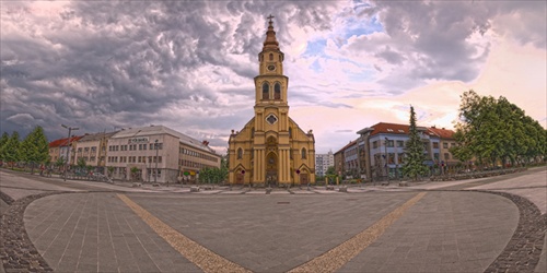
POLYGON ((35 164, 45 164, 49 158, 49 146, 44 129, 37 126, 21 142, 21 159, 31 164, 31 173, 34 174, 35 164))

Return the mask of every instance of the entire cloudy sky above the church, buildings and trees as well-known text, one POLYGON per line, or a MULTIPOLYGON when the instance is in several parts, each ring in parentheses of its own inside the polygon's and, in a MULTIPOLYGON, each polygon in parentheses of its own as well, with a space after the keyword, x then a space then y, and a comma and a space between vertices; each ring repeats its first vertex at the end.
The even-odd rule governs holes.
POLYGON ((267 20, 290 116, 336 152, 376 122, 453 128, 459 95, 547 127, 546 2, 0 1, 1 131, 163 124, 224 153, 253 117, 267 20))

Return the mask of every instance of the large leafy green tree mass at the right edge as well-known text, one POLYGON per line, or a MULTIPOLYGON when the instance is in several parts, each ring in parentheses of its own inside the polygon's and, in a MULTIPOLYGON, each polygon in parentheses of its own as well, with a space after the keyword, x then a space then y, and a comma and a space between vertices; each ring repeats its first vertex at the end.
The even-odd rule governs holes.
POLYGON ((473 156, 496 167, 542 161, 546 155, 546 130, 505 97, 462 95, 459 122, 452 152, 463 161, 473 156))

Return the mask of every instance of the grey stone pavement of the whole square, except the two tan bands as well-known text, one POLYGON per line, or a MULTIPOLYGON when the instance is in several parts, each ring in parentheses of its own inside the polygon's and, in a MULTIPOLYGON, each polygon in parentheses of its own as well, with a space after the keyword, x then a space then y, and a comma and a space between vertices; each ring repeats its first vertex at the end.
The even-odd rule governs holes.
POLYGON ((247 188, 189 193, 179 187, 135 189, 82 181, 48 188, 47 181, 16 175, 11 179, 19 182, 8 188, 4 171, 0 175, 0 204, 9 205, 0 210, 0 258, 7 272, 211 272, 187 259, 150 223, 165 225, 172 235, 242 269, 287 272, 370 228, 380 230, 377 223, 424 190, 426 195, 337 271, 545 271, 546 214, 538 209, 538 197, 547 190, 544 169, 442 185, 458 191, 423 183, 349 188, 348 193, 294 188, 271 194, 247 188), (503 192, 484 192, 499 189, 503 192), (142 214, 120 199, 121 191, 142 214))

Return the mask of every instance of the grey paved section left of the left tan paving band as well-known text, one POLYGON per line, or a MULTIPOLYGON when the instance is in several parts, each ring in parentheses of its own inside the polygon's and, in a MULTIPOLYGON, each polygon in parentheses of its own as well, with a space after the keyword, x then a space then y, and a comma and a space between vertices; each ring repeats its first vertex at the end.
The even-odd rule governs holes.
POLYGON ((55 271, 200 272, 115 193, 36 200, 27 207, 25 224, 55 271))

